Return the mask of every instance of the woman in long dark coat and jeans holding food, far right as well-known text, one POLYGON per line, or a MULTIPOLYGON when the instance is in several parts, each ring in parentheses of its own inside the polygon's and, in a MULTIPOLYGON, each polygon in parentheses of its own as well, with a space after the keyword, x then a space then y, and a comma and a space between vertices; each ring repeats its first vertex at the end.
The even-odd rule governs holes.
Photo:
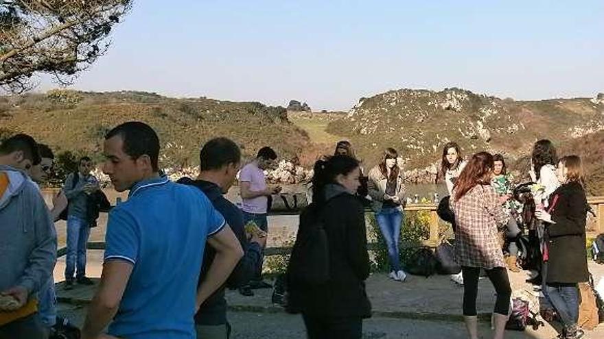
POLYGON ((588 281, 589 271, 585 249, 585 218, 588 202, 583 190, 581 158, 570 155, 560 160, 557 176, 561 186, 549 198, 547 211, 537 210, 535 216, 546 222, 547 261, 545 294, 559 314, 563 332, 560 338, 581 338, 579 290, 577 283, 588 281))

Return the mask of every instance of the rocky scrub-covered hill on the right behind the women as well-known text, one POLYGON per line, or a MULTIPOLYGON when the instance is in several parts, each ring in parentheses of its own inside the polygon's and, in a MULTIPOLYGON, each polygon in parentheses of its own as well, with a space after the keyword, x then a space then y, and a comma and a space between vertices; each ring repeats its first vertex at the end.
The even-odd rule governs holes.
POLYGON ((351 140, 369 165, 385 147, 395 147, 407 168, 423 168, 440 161, 448 141, 458 142, 465 154, 496 151, 514 160, 539 138, 561 143, 601 129, 603 101, 513 101, 452 88, 391 90, 362 98, 326 131, 351 140))

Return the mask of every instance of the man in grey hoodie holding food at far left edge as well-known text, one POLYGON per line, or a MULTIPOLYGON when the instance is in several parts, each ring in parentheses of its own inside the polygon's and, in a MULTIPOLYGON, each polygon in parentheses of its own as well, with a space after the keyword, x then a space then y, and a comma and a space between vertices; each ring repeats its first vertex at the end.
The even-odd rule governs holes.
POLYGON ((17 134, 0 145, 0 339, 45 338, 37 294, 56 263, 56 232, 36 184, 38 145, 17 134))

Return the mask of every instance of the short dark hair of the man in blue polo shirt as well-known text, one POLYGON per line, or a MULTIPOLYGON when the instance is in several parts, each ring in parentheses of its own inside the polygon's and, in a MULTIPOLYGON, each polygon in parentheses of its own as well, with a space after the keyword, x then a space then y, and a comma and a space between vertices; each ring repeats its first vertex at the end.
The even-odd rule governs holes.
POLYGON ((140 121, 128 121, 111 129, 105 140, 114 136, 120 136, 124 141, 124 153, 130 155, 130 158, 138 159, 146 154, 151 160, 153 171, 158 171, 159 138, 149 125, 140 121))

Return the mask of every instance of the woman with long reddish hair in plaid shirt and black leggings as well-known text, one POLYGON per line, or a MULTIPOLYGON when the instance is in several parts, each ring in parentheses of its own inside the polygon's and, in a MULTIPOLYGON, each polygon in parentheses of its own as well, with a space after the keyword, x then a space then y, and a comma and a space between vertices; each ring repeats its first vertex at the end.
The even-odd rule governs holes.
POLYGON ((511 288, 497 238, 497 229, 507 224, 509 214, 502 209, 491 186, 492 175, 493 155, 472 155, 455 183, 450 201, 457 224, 455 255, 463 274, 463 316, 470 339, 478 338, 476 296, 480 268, 485 269, 497 293, 494 339, 503 338, 509 312, 511 288))

